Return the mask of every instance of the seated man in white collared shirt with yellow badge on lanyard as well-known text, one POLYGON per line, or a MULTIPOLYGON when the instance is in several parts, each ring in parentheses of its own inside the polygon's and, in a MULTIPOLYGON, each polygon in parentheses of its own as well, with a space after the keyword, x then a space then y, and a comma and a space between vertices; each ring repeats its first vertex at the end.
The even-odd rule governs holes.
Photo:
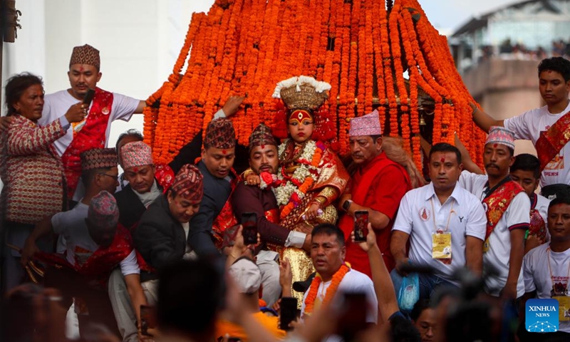
POLYGON ((404 195, 390 240, 396 291, 405 275, 401 267, 408 262, 437 270, 437 274, 420 274, 420 299, 429 299, 437 286, 459 286, 453 279, 456 269, 467 266, 475 274, 482 273, 487 224, 480 200, 456 186, 462 170, 457 147, 443 142, 433 145, 429 167, 432 182, 404 195))

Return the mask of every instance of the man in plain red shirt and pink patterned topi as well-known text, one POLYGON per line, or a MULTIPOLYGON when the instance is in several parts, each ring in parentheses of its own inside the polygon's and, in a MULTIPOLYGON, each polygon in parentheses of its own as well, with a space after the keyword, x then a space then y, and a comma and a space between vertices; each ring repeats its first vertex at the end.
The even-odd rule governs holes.
MULTIPOLYGON (((377 110, 353 118, 349 135, 351 155, 358 169, 341 196, 339 209, 345 213, 341 216, 339 226, 343 229, 344 236, 350 237, 354 212, 367 210, 378 247, 388 271, 391 271, 395 264, 390 254, 390 231, 400 199, 412 188, 410 177, 402 166, 388 159, 382 150, 382 130, 377 110)), ((371 276, 368 254, 351 239, 346 240, 346 261, 353 269, 371 276)))

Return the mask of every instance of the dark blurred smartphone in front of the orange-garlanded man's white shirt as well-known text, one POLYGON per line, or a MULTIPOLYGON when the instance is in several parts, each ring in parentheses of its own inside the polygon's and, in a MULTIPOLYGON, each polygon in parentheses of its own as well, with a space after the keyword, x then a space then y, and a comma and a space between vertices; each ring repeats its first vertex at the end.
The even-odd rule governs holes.
POLYGON ((351 341, 356 333, 366 329, 368 302, 364 292, 344 292, 343 306, 339 319, 339 333, 345 341, 351 341))

